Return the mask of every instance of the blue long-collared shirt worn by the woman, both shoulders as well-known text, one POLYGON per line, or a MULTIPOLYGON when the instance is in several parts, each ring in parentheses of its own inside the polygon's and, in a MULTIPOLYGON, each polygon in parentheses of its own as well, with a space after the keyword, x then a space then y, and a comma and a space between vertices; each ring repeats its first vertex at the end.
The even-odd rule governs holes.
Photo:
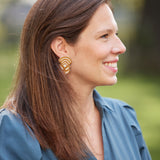
MULTIPOLYGON (((128 104, 102 98, 94 91, 94 101, 102 118, 104 160, 151 160, 135 111, 128 104)), ((29 128, 30 130, 30 128, 29 128)), ((0 160, 57 160, 43 150, 23 125, 20 116, 0 110, 0 160)), ((88 160, 96 160, 90 157, 88 160)))

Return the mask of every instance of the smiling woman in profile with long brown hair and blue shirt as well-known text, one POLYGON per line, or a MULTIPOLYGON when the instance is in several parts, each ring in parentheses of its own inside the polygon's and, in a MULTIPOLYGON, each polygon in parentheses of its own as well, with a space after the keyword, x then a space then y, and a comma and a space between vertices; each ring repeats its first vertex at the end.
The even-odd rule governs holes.
POLYGON ((150 159, 134 110, 94 90, 117 82, 117 31, 108 1, 35 3, 0 113, 0 159, 150 159))

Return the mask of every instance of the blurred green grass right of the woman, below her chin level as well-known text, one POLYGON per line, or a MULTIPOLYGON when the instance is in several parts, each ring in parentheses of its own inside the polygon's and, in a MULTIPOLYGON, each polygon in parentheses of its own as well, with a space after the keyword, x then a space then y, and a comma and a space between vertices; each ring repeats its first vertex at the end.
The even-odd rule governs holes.
POLYGON ((131 105, 140 123, 152 159, 160 157, 160 77, 125 75, 114 86, 97 87, 101 95, 121 99, 131 105))

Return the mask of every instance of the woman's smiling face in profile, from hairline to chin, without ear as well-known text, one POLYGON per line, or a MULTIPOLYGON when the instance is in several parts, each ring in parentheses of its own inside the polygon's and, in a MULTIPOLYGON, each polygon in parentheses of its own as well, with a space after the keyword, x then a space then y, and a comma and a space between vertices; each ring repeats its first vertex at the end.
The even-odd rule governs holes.
POLYGON ((111 9, 101 5, 72 46, 71 80, 92 87, 117 82, 118 56, 126 51, 117 32, 111 9))

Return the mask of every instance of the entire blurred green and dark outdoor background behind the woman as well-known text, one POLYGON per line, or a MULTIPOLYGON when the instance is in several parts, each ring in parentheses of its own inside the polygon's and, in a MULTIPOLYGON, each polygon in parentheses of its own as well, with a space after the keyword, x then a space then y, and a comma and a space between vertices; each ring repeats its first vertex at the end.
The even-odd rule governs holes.
MULTIPOLYGON (((19 37, 35 0, 0 2, 0 105, 11 87, 19 57, 19 37)), ((120 56, 118 83, 97 87, 103 95, 129 103, 137 113, 153 160, 160 159, 160 1, 114 0, 119 36, 127 47, 120 56)))

